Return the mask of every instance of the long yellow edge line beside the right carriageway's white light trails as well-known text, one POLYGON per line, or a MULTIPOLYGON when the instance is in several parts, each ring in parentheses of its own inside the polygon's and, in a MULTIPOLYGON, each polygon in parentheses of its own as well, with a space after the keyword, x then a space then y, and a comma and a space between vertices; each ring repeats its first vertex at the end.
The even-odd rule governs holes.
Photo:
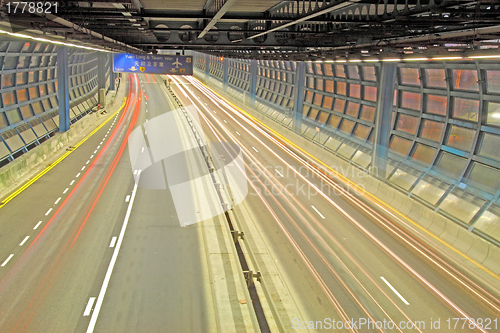
POLYGON ((426 234, 428 234, 429 236, 433 237, 435 240, 439 241, 441 244, 445 245, 446 247, 448 247, 450 250, 453 250, 455 251, 456 253, 458 253, 459 255, 461 255, 462 257, 464 257, 465 259, 469 260, 470 262, 472 262, 473 264, 475 264, 476 266, 478 266, 479 268, 481 268, 482 270, 484 270, 485 272, 489 273, 490 275, 492 275, 493 277, 495 277, 496 279, 500 280, 500 277, 493 271, 489 270, 488 268, 484 267, 481 263, 478 263, 477 261, 475 261, 474 259, 468 257, 466 254, 464 254, 463 252, 461 252, 460 250, 456 249, 455 247, 453 247, 452 245, 448 244, 447 242, 445 242, 444 240, 442 240, 441 238, 439 238, 438 236, 434 235, 433 233, 431 233, 429 230, 425 229, 424 227, 422 227, 421 225, 419 225, 417 222, 411 220, 410 218, 408 218, 407 216, 403 215, 401 212, 399 212, 398 210, 396 210, 395 208, 392 208, 391 206, 389 206, 388 204, 386 204, 385 202, 379 200, 377 197, 375 197, 373 194, 371 194, 370 192, 368 192, 366 189, 362 188, 361 186, 353 183, 350 179, 348 178, 345 178, 344 176, 342 176, 340 173, 338 173, 337 171, 335 171, 334 169, 332 169, 330 166, 328 166, 327 164, 325 164, 323 161, 319 160, 318 158, 316 158, 315 156, 309 154, 307 151, 303 150, 302 148, 300 148, 299 146, 297 146, 295 143, 291 142, 290 140, 288 140, 287 138, 285 138, 284 136, 282 136, 281 134, 275 132, 273 129, 271 129, 270 127, 268 127, 267 125, 265 125, 264 123, 262 123, 260 120, 256 119, 255 117, 253 117, 252 115, 248 114, 246 111, 242 110, 241 108, 239 108, 238 106, 234 105, 233 103, 231 103, 230 101, 228 101, 224 96, 220 95, 219 93, 217 93, 216 91, 212 90, 209 86, 207 86, 206 84, 204 84, 203 82, 201 82, 200 80, 198 80, 202 85, 204 85, 205 87, 207 87, 208 89, 210 89, 213 93, 215 93, 217 96, 219 96, 220 98, 224 99, 227 103, 229 103, 230 105, 232 105, 234 108, 236 108, 237 110, 240 110, 243 114, 245 114, 247 117, 249 117, 250 119, 252 119, 253 121, 259 123, 261 126, 267 128, 269 131, 271 131, 275 136, 277 136, 278 138, 282 139, 283 141, 287 142, 289 145, 295 147, 297 150, 300 150, 302 153, 304 153, 305 155, 309 156, 310 158, 312 158, 313 160, 315 160, 316 162, 320 163, 321 165, 325 166, 328 170, 330 170, 333 174, 336 175, 337 178, 340 178, 342 179, 345 183, 348 184, 348 186, 350 187, 354 187, 356 189, 361 189, 363 190, 363 193, 366 193, 370 198, 372 198, 376 203, 378 203, 380 206, 383 206, 385 207, 386 209, 392 211, 393 213, 399 215, 400 217, 402 217, 403 219, 405 219, 406 221, 410 222, 411 224, 413 224, 415 227, 419 228, 421 231, 425 232, 426 234))

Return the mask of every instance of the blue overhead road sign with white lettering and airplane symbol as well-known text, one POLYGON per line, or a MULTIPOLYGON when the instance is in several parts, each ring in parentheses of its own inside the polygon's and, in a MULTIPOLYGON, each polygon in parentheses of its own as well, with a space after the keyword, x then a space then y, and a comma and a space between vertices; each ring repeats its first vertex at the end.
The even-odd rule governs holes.
POLYGON ((193 75, 193 57, 163 54, 113 54, 115 73, 193 75))

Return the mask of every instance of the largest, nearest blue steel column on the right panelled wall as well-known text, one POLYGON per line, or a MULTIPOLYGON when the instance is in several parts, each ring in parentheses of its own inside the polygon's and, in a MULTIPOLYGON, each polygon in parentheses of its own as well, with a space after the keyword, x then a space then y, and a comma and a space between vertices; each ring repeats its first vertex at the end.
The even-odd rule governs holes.
POLYGON ((371 173, 373 176, 383 180, 386 177, 389 156, 392 102, 394 100, 397 67, 397 63, 382 63, 377 91, 377 116, 375 118, 371 173))

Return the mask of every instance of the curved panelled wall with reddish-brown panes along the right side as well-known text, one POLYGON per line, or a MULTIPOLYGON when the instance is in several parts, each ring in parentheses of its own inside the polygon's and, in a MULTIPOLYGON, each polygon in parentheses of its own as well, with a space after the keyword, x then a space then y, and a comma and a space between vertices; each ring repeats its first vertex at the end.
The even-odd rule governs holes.
MULTIPOLYGON (((205 80, 205 55, 194 55, 195 75, 205 80)), ((250 60, 210 56, 209 63, 210 84, 251 100, 250 60)), ((257 66, 252 106, 291 128, 297 63, 259 60, 257 66)), ((307 62, 305 67, 301 134, 369 169, 380 63, 307 62)), ((498 62, 398 63, 397 68, 386 182, 469 230, 499 235, 498 62)))

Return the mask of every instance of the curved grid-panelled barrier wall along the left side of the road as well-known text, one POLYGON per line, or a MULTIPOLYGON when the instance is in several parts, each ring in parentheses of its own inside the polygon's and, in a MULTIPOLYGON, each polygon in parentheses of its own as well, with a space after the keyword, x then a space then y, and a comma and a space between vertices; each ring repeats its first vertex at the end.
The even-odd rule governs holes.
MULTIPOLYGON (((98 100, 97 52, 70 48, 71 123, 98 100)), ((106 57, 106 89, 111 57, 106 57)), ((0 166, 58 131, 57 52, 54 44, 0 42, 0 166)))

